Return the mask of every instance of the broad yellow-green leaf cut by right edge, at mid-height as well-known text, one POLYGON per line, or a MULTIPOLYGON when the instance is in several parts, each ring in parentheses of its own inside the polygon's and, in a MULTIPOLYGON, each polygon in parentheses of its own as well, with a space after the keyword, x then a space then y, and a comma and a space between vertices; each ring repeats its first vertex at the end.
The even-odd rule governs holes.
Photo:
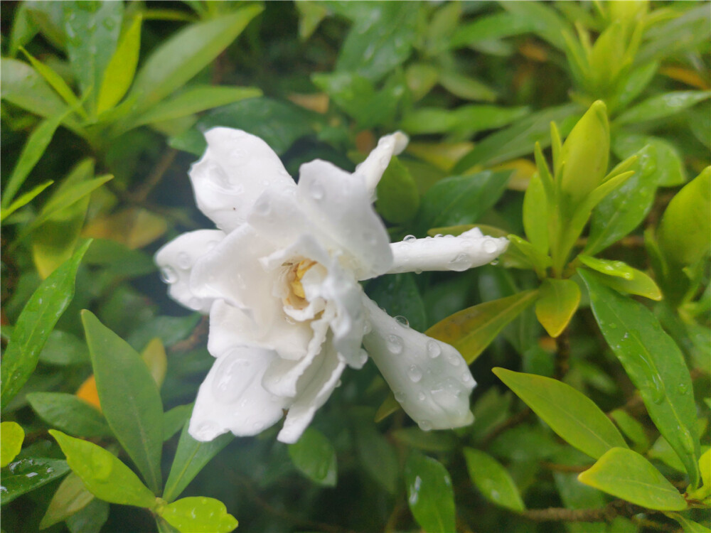
POLYGON ((699 262, 711 249, 711 166, 680 190, 659 225, 659 248, 669 261, 699 262))

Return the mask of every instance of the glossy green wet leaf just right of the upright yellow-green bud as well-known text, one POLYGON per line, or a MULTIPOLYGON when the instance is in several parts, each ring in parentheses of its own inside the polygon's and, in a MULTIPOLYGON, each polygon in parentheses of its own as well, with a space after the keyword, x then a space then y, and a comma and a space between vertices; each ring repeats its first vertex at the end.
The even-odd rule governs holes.
POLYGON ((612 191, 594 209, 585 253, 594 255, 634 230, 648 215, 658 185, 654 146, 635 154, 630 170, 634 174, 620 188, 612 191))

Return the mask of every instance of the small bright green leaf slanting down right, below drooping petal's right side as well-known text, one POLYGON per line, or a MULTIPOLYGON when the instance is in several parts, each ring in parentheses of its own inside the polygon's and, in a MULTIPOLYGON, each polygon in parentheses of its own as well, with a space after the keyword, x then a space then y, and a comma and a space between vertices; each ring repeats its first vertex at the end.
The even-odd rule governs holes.
POLYGON ((464 458, 469 477, 483 497, 506 509, 525 510, 516 484, 501 463, 488 453, 474 448, 464 448, 464 458))

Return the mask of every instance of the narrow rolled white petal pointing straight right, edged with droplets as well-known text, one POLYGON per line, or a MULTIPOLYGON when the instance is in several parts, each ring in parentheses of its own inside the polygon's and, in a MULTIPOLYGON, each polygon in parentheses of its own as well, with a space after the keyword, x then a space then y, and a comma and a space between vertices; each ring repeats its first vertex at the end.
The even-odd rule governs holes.
POLYGON ((454 270, 461 272, 474 266, 491 263, 506 251, 508 240, 481 235, 474 228, 461 235, 405 239, 390 244, 393 263, 388 274, 454 270))

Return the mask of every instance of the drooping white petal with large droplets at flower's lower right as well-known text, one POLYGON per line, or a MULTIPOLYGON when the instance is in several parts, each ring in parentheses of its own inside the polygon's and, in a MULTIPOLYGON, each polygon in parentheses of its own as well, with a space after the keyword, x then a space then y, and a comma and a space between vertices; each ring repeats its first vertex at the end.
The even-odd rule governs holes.
POLYGON ((425 431, 471 424, 469 394, 476 383, 459 352, 363 300, 373 326, 363 344, 405 412, 425 431))

